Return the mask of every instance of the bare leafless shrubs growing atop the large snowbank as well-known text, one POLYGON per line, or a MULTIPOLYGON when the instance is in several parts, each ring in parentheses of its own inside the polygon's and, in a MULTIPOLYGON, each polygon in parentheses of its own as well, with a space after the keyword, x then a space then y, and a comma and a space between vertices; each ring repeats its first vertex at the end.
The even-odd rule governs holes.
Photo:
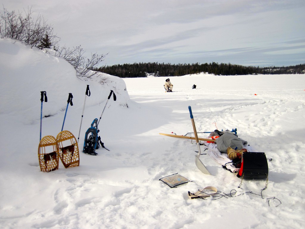
POLYGON ((68 61, 76 70, 78 78, 91 78, 97 74, 91 71, 95 66, 103 61, 107 55, 92 54, 91 58, 84 56, 85 51, 81 45, 72 49, 65 46, 59 47, 60 38, 53 34, 53 27, 44 20, 43 16, 38 14, 35 20, 32 19, 31 9, 22 13, 15 11, 9 12, 3 6, 4 13, 0 16, 0 34, 1 38, 12 38, 24 42, 26 45, 37 47, 46 53, 51 53, 68 61))

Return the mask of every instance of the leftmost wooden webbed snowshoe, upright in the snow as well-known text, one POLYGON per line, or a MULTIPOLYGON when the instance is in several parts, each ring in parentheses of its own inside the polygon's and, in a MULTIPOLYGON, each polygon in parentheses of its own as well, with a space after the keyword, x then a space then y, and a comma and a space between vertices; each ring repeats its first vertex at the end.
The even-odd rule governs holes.
POLYGON ((58 169, 58 145, 55 137, 43 137, 38 146, 38 160, 42 172, 50 172, 58 169))

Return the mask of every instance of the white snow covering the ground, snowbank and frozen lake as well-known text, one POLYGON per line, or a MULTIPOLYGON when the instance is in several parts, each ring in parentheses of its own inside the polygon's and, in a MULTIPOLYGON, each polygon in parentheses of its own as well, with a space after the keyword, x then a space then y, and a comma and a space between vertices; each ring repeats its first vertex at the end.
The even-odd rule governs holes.
MULTIPOLYGON (((117 78, 81 81, 66 61, 0 39, 0 225, 1 228, 303 228, 305 227, 304 75, 117 78), (192 85, 197 85, 192 89, 192 85), (80 166, 44 173, 38 162, 41 94, 42 136, 64 129, 79 141, 99 118, 97 156, 80 152, 80 166), (256 94, 256 95, 255 95, 256 94), (209 155, 200 156, 211 175, 195 165, 195 141, 162 136, 235 129, 265 152, 266 180, 242 180, 209 155), (170 188, 159 179, 179 173, 192 182, 170 188), (206 186, 232 197, 189 199, 206 186), (240 188, 239 188, 240 187, 240 188), (236 191, 236 194, 234 194, 236 191), (252 193, 249 193, 252 192, 252 193), (262 196, 260 196, 262 194, 262 196)), ((207 134, 199 134, 206 137, 207 134)), ((204 143, 204 142, 202 142, 204 143)), ((201 146, 203 153, 205 146, 201 146)))

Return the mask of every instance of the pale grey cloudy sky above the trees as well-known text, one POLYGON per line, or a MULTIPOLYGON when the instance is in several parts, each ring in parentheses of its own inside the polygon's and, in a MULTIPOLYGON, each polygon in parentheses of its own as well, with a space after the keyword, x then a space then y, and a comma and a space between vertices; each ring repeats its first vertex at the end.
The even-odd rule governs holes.
MULTIPOLYGON (((101 65, 135 62, 305 63, 304 0, 2 0, 40 13, 61 38, 101 65)), ((1 7, 3 14, 3 6, 1 7)))

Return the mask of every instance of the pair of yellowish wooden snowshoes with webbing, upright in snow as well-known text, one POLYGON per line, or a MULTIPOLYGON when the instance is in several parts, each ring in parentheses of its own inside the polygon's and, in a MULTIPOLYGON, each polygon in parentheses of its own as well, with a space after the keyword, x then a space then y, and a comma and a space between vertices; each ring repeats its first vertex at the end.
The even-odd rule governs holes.
POLYGON ((58 169, 59 158, 65 168, 79 166, 79 149, 74 135, 61 131, 57 137, 45 136, 38 146, 38 160, 42 172, 58 169))

